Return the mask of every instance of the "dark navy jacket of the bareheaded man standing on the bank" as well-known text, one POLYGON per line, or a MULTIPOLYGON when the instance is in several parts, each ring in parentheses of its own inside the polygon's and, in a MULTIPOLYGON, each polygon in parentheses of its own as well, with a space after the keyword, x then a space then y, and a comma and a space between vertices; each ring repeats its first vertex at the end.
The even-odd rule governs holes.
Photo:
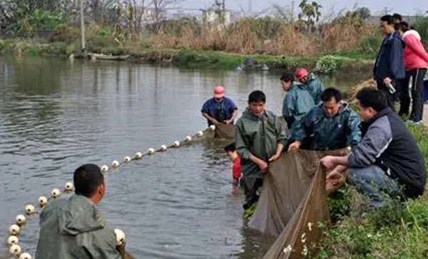
POLYGON ((384 38, 374 63, 374 80, 384 80, 387 77, 396 80, 405 77, 404 46, 405 43, 398 31, 384 38))

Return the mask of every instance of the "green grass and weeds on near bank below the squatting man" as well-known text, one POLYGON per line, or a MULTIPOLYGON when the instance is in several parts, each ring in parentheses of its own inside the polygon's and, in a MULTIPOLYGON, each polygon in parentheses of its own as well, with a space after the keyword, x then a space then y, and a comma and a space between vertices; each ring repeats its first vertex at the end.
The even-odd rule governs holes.
MULTIPOLYGON (((428 166, 428 132, 409 126, 428 166)), ((362 197, 345 188, 335 199, 337 220, 312 258, 428 258, 428 197, 390 202, 368 214, 362 197), (345 213, 345 216, 344 216, 345 213), (364 216, 363 216, 364 215, 364 216)))

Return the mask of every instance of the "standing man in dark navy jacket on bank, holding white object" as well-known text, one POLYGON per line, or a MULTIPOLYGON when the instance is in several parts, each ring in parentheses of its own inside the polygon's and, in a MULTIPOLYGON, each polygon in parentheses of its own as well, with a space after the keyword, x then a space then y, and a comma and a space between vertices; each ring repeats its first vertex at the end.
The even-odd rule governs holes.
POLYGON ((374 80, 377 82, 377 88, 387 96, 388 106, 395 110, 394 97, 398 89, 396 84, 405 78, 404 41, 394 29, 393 16, 386 15, 380 18, 380 30, 385 38, 374 63, 374 80))

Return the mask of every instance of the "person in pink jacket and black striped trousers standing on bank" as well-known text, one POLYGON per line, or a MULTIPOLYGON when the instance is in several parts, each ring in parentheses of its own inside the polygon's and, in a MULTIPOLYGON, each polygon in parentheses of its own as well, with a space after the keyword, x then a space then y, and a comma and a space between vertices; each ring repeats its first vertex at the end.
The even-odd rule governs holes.
POLYGON ((412 113, 409 120, 414 124, 422 122, 424 112, 424 76, 428 68, 428 53, 421 42, 421 36, 409 24, 399 24, 399 31, 406 46, 404 48, 404 68, 406 78, 402 82, 399 115, 409 115, 409 81, 412 78, 412 113))

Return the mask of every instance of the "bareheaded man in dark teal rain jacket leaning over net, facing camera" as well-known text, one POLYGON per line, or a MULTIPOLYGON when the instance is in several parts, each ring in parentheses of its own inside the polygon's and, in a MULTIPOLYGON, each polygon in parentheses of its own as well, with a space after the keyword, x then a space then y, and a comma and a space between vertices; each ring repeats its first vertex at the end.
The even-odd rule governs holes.
POLYGON ((360 119, 342 100, 342 93, 335 88, 327 88, 321 95, 322 103, 313 107, 300 120, 297 132, 292 132, 295 142, 289 151, 299 149, 310 139, 305 148, 311 150, 335 150, 353 146, 360 142, 360 119))

